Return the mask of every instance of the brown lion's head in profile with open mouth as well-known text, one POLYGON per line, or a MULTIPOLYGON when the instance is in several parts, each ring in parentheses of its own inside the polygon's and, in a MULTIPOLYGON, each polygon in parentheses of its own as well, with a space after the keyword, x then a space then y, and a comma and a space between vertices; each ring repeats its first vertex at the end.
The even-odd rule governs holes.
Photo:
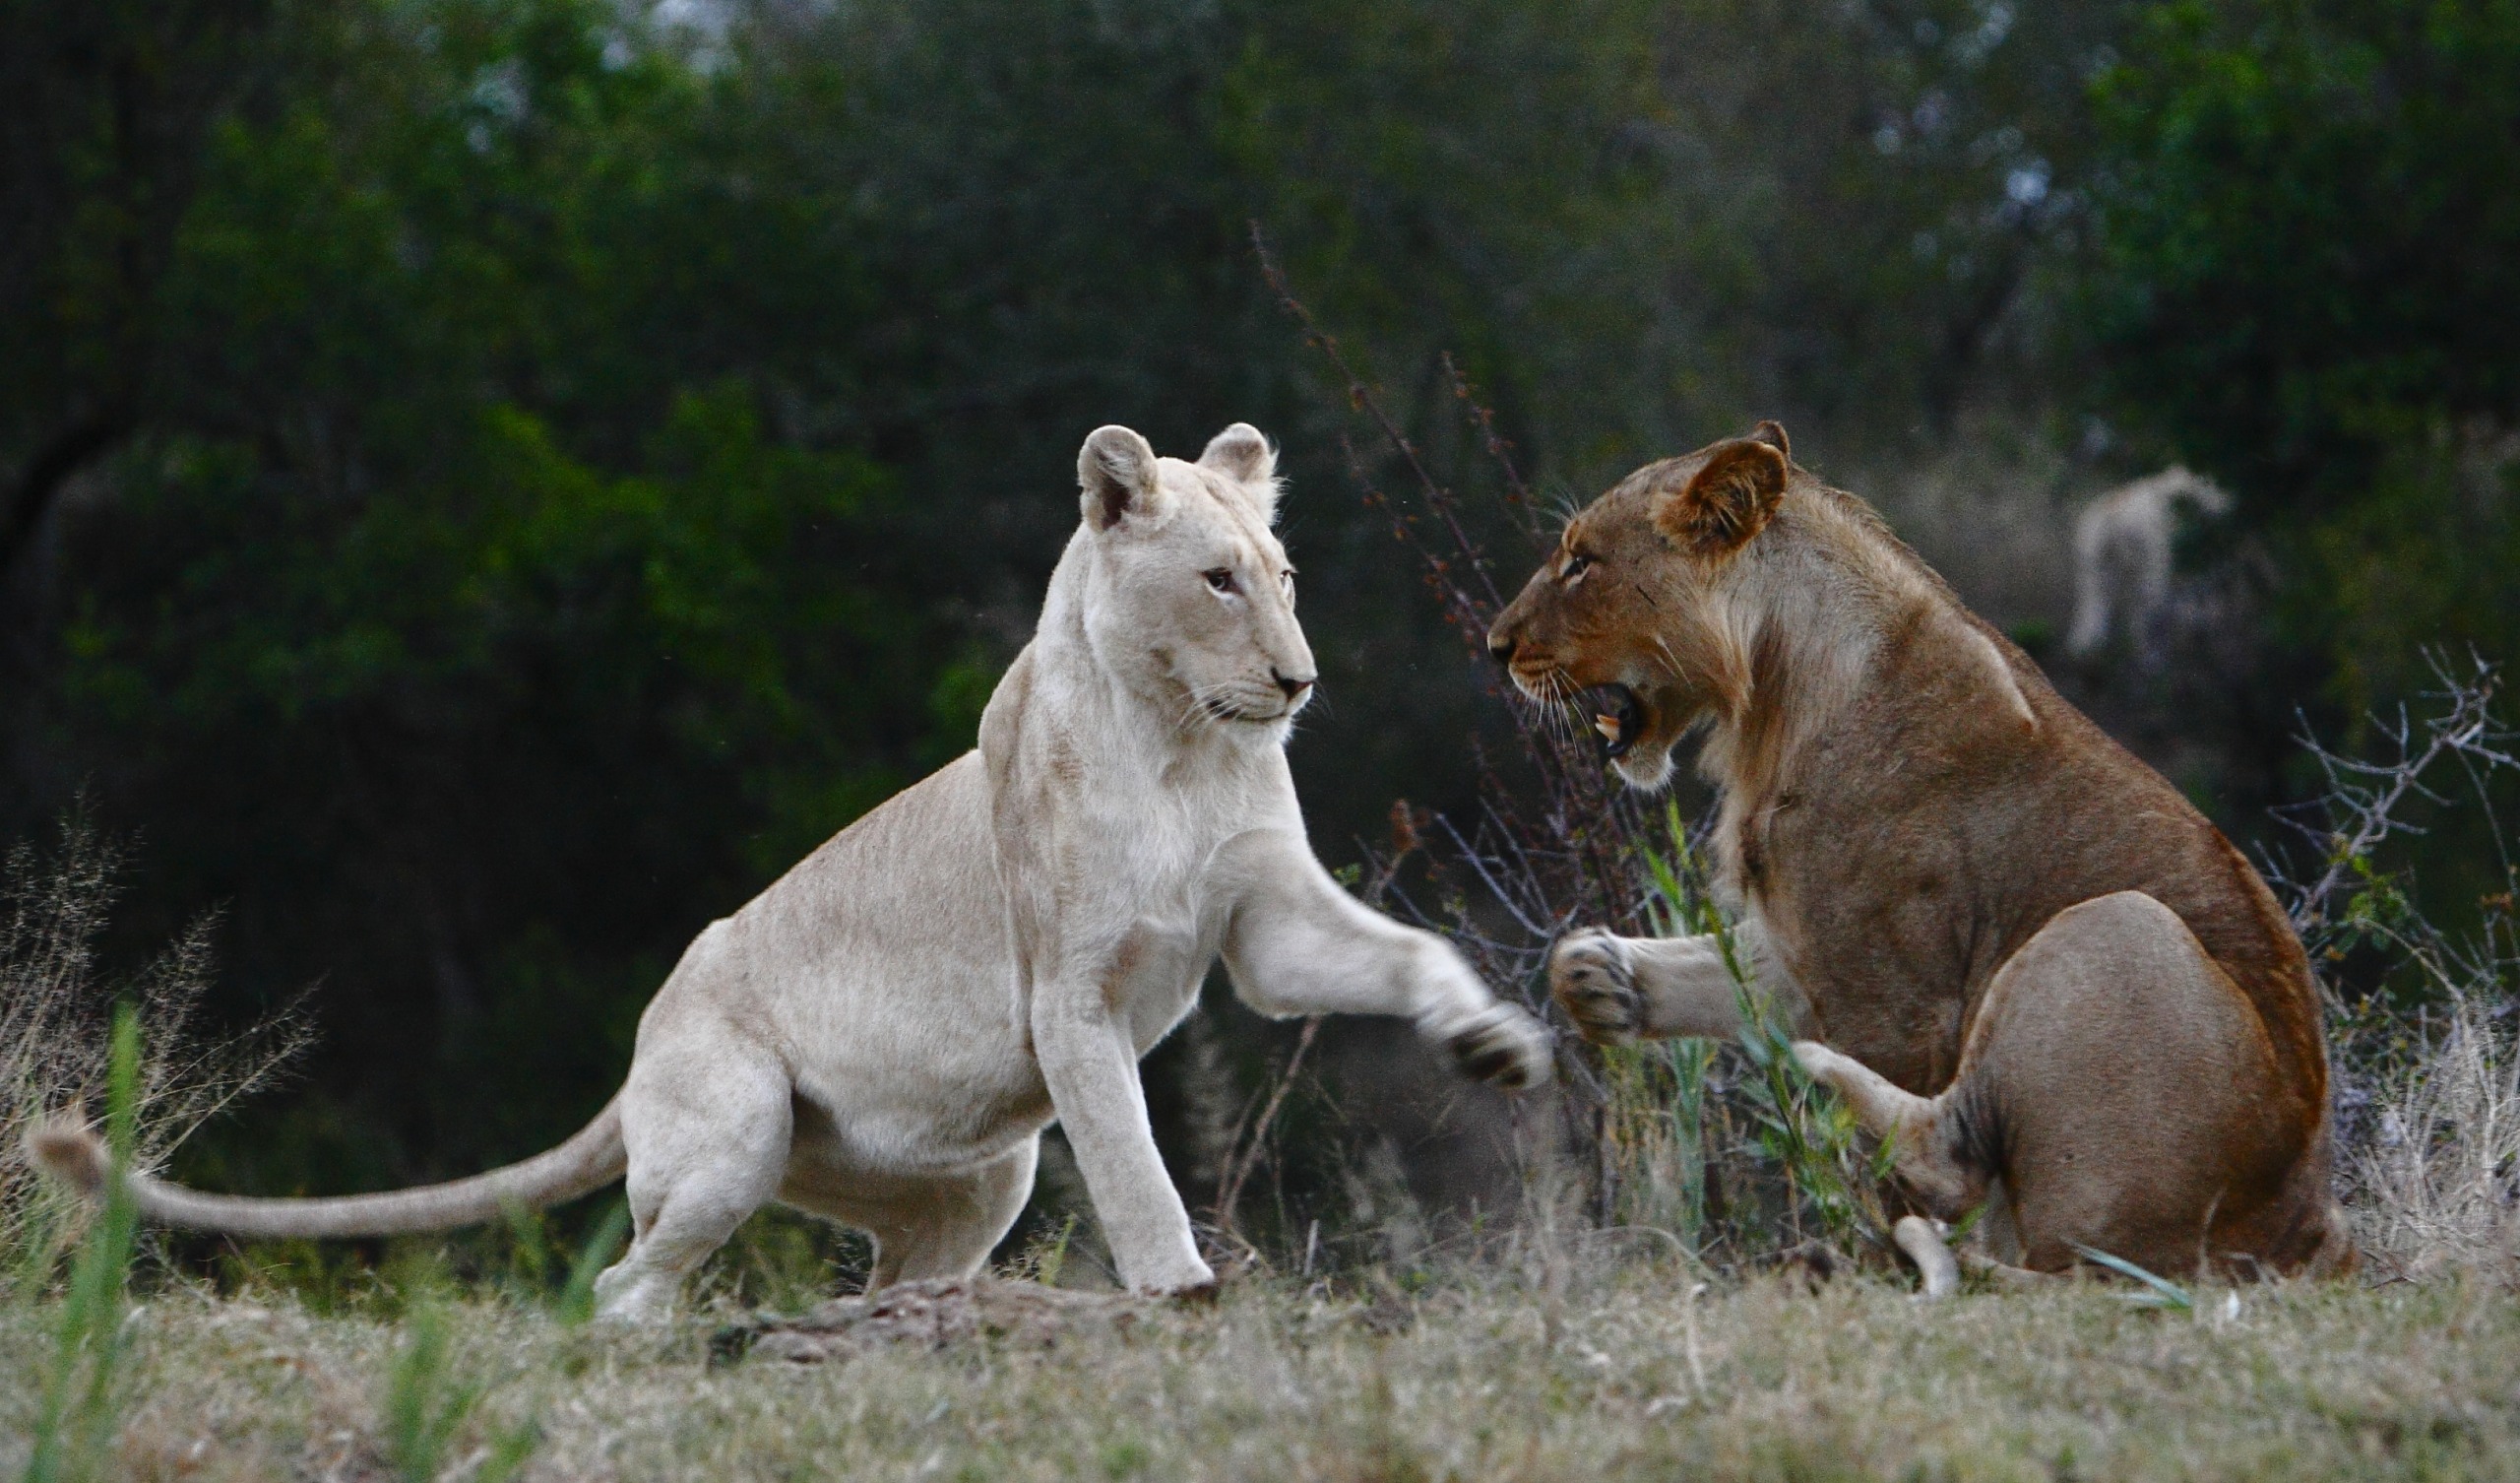
POLYGON ((1522 694, 1570 706, 1635 787, 1661 787, 1671 747, 1701 719, 1731 716, 1749 691, 1729 595, 1789 469, 1772 421, 1646 464, 1567 522, 1487 631, 1487 651, 1522 694))

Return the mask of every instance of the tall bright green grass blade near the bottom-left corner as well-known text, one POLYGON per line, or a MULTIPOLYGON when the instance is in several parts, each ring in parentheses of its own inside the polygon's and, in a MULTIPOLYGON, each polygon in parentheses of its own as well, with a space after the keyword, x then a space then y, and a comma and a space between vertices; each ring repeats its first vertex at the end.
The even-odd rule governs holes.
POLYGON ((139 1150, 139 1102, 141 1021, 131 1006, 121 1006, 113 1014, 113 1062, 106 1082, 106 1150, 113 1155, 113 1178, 106 1180, 106 1203, 93 1216, 78 1264, 71 1269, 25 1483, 106 1475, 121 1417, 116 1372, 131 1342, 123 1319, 139 1211, 121 1175, 139 1150))

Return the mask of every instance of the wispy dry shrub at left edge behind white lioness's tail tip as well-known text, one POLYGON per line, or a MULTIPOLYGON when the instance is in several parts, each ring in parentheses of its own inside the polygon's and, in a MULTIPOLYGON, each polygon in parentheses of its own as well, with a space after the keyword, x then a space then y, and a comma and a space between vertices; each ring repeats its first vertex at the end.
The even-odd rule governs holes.
POLYGON ((212 918, 151 963, 106 976, 98 941, 121 852, 73 812, 45 858, 18 845, 0 863, 0 1264, 48 1281, 83 1206, 25 1155, 30 1125, 93 1112, 106 1087, 113 1004, 141 1021, 139 1163, 164 1165, 202 1122, 270 1082, 312 1039, 297 1004, 242 1034, 197 1024, 212 976, 212 918))

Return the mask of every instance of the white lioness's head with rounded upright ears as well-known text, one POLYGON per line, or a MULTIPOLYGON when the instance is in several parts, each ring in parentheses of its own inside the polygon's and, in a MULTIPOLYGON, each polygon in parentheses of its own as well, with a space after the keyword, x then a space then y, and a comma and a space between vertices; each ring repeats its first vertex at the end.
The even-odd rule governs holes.
POLYGON ((1283 736, 1313 699, 1295 567, 1270 532, 1275 472, 1268 439, 1240 421, 1194 464, 1154 457, 1124 426, 1094 429, 1076 454, 1086 641, 1184 729, 1283 736))

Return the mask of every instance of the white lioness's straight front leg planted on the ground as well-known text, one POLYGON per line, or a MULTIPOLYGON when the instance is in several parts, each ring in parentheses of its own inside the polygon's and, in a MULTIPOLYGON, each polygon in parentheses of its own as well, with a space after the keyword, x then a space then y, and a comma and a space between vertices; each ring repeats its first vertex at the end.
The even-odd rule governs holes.
POLYGON ((1129 1021, 1111 1011, 1099 976, 1033 989, 1033 1049, 1119 1279, 1152 1294, 1215 1286, 1217 1274, 1200 1259, 1189 1211, 1154 1148, 1129 1021))

